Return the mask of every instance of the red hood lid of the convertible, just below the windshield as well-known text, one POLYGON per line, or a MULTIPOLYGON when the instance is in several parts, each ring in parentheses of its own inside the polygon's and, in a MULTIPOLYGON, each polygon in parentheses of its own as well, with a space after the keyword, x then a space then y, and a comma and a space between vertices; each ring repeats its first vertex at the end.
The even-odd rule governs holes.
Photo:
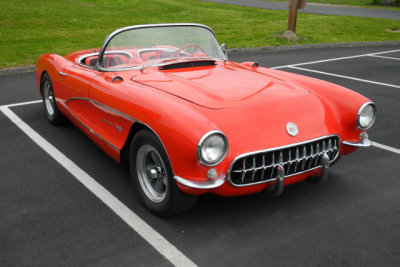
POLYGON ((276 101, 277 96, 290 99, 310 94, 277 77, 231 62, 168 71, 149 69, 132 80, 211 109, 235 107, 256 98, 268 102, 276 101))

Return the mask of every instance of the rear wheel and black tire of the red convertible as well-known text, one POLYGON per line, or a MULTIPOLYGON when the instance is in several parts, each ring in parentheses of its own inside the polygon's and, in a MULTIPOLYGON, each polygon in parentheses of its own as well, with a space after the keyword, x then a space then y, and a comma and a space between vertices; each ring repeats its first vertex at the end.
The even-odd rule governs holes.
POLYGON ((40 81, 40 90, 42 92, 43 107, 46 118, 50 123, 60 125, 64 122, 64 117, 57 108, 56 98, 54 96, 53 84, 50 76, 45 72, 40 81))

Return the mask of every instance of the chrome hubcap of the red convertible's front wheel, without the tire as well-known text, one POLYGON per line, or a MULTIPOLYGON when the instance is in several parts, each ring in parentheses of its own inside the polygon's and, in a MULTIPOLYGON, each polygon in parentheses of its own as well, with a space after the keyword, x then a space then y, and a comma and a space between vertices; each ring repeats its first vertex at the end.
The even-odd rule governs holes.
POLYGON ((163 201, 167 192, 168 178, 165 164, 155 148, 150 145, 139 148, 136 171, 146 196, 157 203, 163 201))

